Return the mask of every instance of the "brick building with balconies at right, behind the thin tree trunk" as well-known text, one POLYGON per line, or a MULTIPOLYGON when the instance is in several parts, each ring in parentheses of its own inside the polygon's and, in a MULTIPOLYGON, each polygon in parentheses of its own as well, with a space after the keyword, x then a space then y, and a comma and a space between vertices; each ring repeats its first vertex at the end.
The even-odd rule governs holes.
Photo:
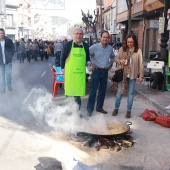
MULTIPOLYGON (((132 0, 131 31, 136 35, 146 60, 150 57, 150 51, 160 50, 158 22, 163 8, 161 0, 132 0)), ((128 33, 128 10, 124 0, 117 0, 116 21, 122 32, 122 40, 125 40, 128 33)))

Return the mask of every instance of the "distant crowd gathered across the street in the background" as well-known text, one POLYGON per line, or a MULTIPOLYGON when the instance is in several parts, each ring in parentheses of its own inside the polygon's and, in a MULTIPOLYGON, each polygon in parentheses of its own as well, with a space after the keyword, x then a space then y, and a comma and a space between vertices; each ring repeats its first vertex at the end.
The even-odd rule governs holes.
POLYGON ((38 61, 38 57, 41 61, 48 61, 49 56, 55 56, 57 61, 60 58, 61 50, 66 42, 67 39, 64 41, 58 39, 56 41, 27 39, 25 41, 21 38, 19 41, 15 40, 14 42, 15 55, 20 63, 24 63, 25 59, 27 59, 29 63, 31 59, 38 61))

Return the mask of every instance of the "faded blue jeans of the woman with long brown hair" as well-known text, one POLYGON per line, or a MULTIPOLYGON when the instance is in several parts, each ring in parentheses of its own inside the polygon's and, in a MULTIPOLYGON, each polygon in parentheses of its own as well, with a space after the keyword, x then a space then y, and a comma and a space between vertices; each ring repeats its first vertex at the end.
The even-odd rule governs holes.
MULTIPOLYGON (((127 78, 127 83, 128 83, 127 111, 131 111, 132 105, 133 105, 133 99, 134 99, 134 89, 135 89, 136 79, 130 80, 130 78, 127 78)), ((118 91, 117 91, 116 100, 115 100, 115 109, 119 109, 120 102, 123 96, 121 92, 121 86, 122 86, 122 82, 119 82, 118 91)))

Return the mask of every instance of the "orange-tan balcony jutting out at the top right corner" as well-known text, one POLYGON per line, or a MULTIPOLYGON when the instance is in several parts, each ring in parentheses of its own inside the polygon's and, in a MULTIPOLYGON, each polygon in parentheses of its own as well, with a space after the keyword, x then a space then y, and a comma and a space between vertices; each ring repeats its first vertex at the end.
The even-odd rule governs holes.
POLYGON ((164 4, 162 0, 147 0, 144 7, 149 12, 164 7, 164 4))

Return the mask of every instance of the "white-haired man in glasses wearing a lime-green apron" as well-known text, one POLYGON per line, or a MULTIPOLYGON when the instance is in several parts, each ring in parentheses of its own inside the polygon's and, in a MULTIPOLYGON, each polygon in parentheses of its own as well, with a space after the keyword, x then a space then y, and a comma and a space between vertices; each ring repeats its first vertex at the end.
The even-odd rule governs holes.
POLYGON ((64 44, 61 52, 61 68, 65 78, 65 95, 74 97, 81 107, 81 96, 86 90, 86 63, 90 63, 89 46, 83 41, 83 30, 75 28, 73 40, 64 44))

